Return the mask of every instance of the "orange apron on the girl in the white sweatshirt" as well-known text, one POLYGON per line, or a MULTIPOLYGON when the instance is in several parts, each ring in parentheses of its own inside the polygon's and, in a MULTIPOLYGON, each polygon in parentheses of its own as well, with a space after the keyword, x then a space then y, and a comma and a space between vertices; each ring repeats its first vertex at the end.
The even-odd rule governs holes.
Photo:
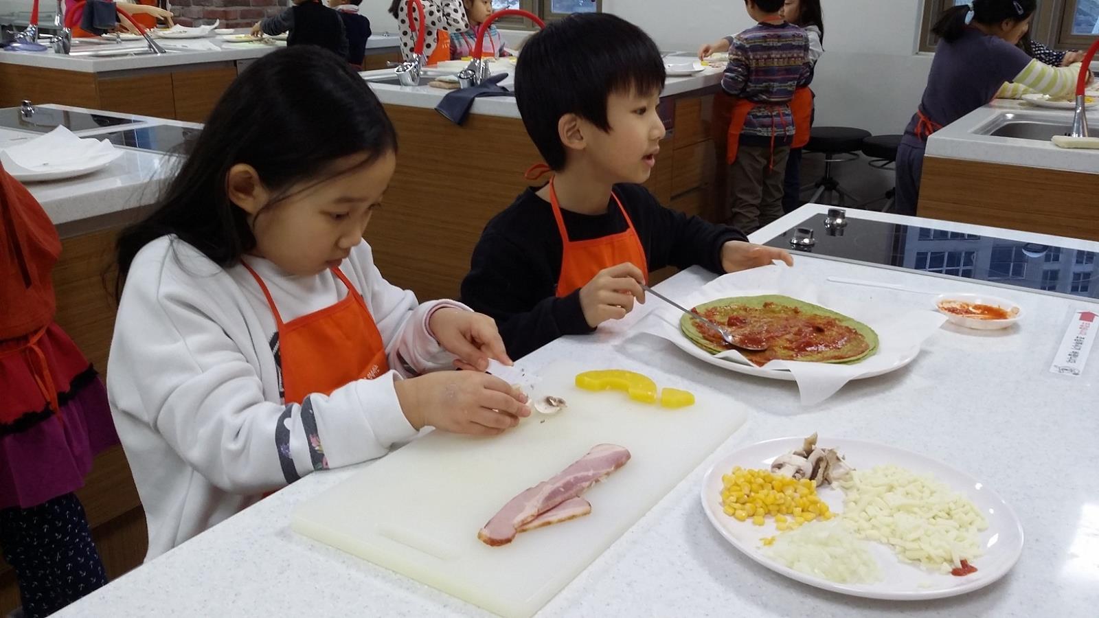
POLYGON ((329 395, 345 384, 389 371, 378 325, 340 268, 332 268, 332 273, 347 286, 343 300, 284 322, 264 280, 251 266, 244 267, 259 284, 278 327, 284 401, 300 404, 313 393, 329 395))

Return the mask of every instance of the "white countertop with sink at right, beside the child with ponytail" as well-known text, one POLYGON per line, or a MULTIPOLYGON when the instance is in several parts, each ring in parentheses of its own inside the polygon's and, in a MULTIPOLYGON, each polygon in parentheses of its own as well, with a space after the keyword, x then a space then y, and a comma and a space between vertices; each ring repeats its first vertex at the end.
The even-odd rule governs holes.
MULTIPOLYGON (((928 156, 1099 174, 1099 151, 1061 148, 1050 141, 974 134, 975 130, 1000 114, 1013 112, 1025 112, 1026 117, 1066 126, 1073 123, 1070 110, 1043 109, 1024 101, 996 99, 934 132, 928 137, 925 152, 928 156)), ((1088 115, 1090 124, 1099 126, 1099 109, 1088 110, 1088 115)))

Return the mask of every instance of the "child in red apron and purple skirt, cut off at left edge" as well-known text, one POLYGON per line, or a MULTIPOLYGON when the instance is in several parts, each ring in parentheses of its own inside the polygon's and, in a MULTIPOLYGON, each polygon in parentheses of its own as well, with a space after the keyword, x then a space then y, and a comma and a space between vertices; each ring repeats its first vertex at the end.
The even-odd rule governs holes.
POLYGON ((0 548, 26 618, 107 583, 73 492, 118 437, 96 369, 53 321, 60 249, 37 200, 0 167, 0 548))

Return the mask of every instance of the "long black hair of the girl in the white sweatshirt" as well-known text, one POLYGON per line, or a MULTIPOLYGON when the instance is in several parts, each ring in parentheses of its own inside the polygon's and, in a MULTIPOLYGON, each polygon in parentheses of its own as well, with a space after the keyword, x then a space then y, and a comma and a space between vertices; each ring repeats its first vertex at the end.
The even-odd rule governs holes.
MULTIPOLYGON (((343 58, 312 45, 259 58, 230 85, 152 214, 122 231, 116 244, 122 285, 134 256, 174 234, 226 267, 255 249, 244 210, 229 199, 236 164, 256 169, 275 196, 303 180, 323 181, 341 157, 365 164, 397 151, 397 132, 378 98, 343 58)), ((279 199, 279 198, 276 198, 279 199)))

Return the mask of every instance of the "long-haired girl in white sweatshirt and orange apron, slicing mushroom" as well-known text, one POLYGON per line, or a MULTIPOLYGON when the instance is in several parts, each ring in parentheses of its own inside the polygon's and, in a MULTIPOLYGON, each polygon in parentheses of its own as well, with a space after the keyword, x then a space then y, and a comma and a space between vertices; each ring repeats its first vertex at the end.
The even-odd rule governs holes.
POLYGON ((530 415, 480 373, 510 363, 491 319, 418 304, 374 265, 363 232, 396 152, 358 75, 289 47, 229 87, 156 210, 120 236, 108 391, 149 559, 423 427, 495 435, 530 415), (424 373, 454 366, 478 371, 424 373))

